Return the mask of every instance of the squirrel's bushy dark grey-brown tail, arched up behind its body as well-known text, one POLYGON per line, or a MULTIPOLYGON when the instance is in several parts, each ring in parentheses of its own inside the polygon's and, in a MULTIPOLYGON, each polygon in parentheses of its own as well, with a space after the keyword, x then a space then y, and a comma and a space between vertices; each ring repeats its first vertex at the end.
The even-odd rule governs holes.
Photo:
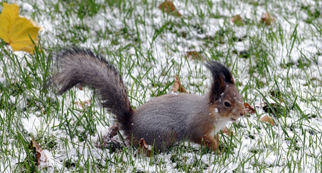
POLYGON ((52 77, 58 94, 76 84, 87 85, 98 93, 102 106, 112 112, 120 128, 131 132, 131 107, 126 88, 119 72, 102 56, 87 49, 67 49, 55 55, 57 72, 52 77))

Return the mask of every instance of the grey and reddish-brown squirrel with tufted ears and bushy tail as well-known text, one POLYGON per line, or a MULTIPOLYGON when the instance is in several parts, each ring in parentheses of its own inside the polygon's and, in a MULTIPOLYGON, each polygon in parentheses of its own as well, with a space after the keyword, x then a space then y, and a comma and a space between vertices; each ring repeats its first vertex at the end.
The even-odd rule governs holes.
POLYGON ((218 132, 245 114, 231 71, 215 61, 205 62, 213 81, 203 96, 170 93, 134 110, 120 73, 103 56, 89 49, 69 48, 55 57, 58 70, 51 82, 58 95, 77 84, 94 89, 134 147, 144 139, 154 151, 164 152, 176 142, 189 140, 220 153, 218 132))

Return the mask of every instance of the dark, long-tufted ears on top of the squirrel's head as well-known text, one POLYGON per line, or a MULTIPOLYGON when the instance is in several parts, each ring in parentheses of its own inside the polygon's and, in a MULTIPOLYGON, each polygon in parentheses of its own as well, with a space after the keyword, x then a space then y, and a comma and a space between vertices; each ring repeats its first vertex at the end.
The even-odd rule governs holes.
POLYGON ((216 61, 206 61, 205 66, 211 71, 212 74, 212 85, 210 90, 210 99, 216 101, 220 95, 224 93, 226 83, 234 83, 233 76, 230 70, 223 64, 216 61))

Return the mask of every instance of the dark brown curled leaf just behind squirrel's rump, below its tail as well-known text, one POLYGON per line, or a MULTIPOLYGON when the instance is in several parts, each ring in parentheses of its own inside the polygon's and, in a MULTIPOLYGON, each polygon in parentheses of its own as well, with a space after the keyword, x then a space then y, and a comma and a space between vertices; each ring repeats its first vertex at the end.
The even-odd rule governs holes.
MULTIPOLYGON (((102 142, 103 142, 103 147, 112 149, 115 151, 117 148, 121 147, 121 144, 117 141, 112 141, 112 138, 115 137, 118 134, 119 131, 119 126, 117 124, 112 125, 109 130, 109 132, 103 136, 102 142)), ((96 148, 101 148, 102 145, 101 143, 97 142, 95 144, 96 148)))

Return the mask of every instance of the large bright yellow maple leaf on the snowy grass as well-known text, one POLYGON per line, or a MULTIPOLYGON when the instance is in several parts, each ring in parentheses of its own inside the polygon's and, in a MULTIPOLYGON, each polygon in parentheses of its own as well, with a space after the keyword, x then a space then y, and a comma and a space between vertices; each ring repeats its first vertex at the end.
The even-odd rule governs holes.
POLYGON ((33 54, 34 44, 38 45, 38 32, 41 29, 32 19, 19 16, 19 6, 4 3, 0 14, 0 38, 9 44, 13 51, 33 54), (32 43, 30 37, 34 44, 32 43))

